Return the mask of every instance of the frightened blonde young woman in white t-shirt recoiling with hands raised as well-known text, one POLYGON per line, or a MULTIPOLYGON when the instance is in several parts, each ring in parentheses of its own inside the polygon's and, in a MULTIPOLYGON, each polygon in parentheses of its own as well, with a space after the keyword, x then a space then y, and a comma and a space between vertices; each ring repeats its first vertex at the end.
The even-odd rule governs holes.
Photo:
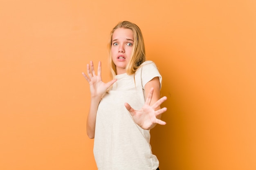
POLYGON ((99 170, 157 170, 150 129, 166 108, 160 104, 162 77, 152 61, 146 61, 144 40, 136 24, 123 21, 110 33, 108 44, 112 80, 101 79, 93 62, 83 76, 90 84, 91 104, 87 135, 94 138, 94 157, 99 170))

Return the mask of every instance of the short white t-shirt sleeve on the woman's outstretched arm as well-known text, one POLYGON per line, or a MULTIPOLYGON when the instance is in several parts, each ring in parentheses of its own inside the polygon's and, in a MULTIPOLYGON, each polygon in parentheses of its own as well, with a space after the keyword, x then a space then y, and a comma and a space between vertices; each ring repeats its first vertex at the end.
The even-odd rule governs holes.
POLYGON ((143 88, 154 77, 159 77, 160 88, 162 86, 162 76, 160 75, 157 66, 152 61, 146 61, 141 64, 141 83, 143 88))

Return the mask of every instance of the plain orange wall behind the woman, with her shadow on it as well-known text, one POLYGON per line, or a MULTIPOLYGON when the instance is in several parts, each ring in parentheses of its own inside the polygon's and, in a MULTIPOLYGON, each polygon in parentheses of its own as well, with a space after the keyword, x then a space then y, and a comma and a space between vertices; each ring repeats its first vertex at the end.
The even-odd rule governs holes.
POLYGON ((161 170, 256 169, 253 0, 1 0, 0 169, 96 170, 81 75, 121 20, 144 33, 163 76, 161 170))

